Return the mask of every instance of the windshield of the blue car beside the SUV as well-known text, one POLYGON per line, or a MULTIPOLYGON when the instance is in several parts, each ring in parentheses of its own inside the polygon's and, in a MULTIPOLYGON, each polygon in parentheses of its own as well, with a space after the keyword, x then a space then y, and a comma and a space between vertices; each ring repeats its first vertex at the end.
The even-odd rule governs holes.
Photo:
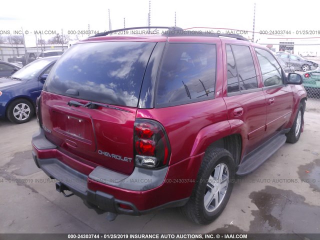
POLYGON ((49 60, 35 60, 31 63, 23 66, 15 73, 11 75, 12 78, 19 78, 23 81, 30 80, 34 76, 36 76, 40 71, 43 71, 44 68, 50 63, 49 60))

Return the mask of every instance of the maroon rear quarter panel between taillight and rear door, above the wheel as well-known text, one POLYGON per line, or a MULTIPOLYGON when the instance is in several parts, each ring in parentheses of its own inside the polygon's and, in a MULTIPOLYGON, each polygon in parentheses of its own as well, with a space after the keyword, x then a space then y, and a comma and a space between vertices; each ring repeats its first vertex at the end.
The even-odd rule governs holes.
POLYGON ((214 140, 230 134, 221 97, 179 106, 138 109, 136 117, 156 119, 163 125, 171 146, 169 164, 200 154, 214 140))

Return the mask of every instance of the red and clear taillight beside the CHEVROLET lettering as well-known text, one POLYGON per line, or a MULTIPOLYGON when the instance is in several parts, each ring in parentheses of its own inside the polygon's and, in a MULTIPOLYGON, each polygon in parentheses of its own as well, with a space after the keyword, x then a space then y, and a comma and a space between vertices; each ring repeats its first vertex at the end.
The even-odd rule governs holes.
POLYGON ((167 165, 170 145, 163 126, 154 120, 134 122, 134 162, 137 166, 158 168, 167 165))

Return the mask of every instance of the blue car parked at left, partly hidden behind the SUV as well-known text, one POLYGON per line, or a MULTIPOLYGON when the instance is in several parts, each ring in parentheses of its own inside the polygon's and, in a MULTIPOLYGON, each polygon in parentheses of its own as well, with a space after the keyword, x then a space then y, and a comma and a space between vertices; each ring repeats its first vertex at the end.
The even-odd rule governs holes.
POLYGON ((0 78, 0 118, 24 123, 34 114, 35 101, 59 56, 41 58, 25 65, 11 76, 0 78))

